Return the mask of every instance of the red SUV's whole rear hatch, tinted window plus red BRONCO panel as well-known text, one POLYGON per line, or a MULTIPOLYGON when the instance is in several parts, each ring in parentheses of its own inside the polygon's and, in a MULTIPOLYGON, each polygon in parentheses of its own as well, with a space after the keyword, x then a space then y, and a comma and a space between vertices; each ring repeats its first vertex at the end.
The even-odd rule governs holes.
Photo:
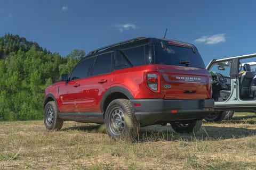
POLYGON ((155 64, 161 75, 161 98, 210 98, 210 74, 196 48, 174 45, 162 48, 155 44, 154 49, 155 64))

